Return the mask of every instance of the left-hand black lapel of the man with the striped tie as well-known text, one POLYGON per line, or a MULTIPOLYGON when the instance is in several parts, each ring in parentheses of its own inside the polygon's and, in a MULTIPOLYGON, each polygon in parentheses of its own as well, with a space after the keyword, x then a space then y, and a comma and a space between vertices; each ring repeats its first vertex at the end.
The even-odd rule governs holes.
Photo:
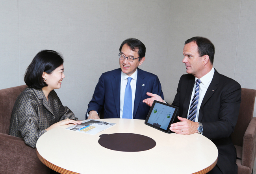
POLYGON ((192 95, 193 88, 194 88, 194 85, 195 85, 195 76, 191 76, 191 77, 192 78, 189 79, 189 82, 187 83, 187 90, 186 90, 186 94, 185 94, 185 100, 184 100, 184 103, 183 103, 183 108, 184 108, 184 111, 183 111, 183 114, 182 114, 183 118, 187 118, 187 112, 189 110, 191 95, 192 95))

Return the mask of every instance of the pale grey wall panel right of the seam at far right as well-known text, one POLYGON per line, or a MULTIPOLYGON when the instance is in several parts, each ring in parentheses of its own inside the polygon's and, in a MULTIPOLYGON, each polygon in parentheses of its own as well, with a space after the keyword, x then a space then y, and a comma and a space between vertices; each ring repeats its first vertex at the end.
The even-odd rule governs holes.
MULTIPOLYGON (((242 0, 234 78, 243 88, 256 89, 256 1, 242 0)), ((256 105, 256 103, 255 103, 256 105)), ((256 109, 254 107, 254 116, 256 109)))

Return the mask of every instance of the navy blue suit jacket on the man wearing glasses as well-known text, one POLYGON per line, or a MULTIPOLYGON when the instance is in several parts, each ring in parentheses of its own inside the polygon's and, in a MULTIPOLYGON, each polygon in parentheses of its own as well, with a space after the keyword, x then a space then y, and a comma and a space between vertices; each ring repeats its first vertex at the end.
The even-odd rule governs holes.
MULTIPOLYGON (((120 118, 121 68, 103 73, 95 87, 93 99, 88 104, 87 112, 101 111, 104 106, 104 118, 120 118)), ((142 101, 147 92, 158 94, 163 92, 158 77, 138 68, 136 92, 134 98, 134 119, 145 120, 150 107, 142 101), (144 84, 144 85, 143 85, 144 84)), ((87 119, 87 116, 86 116, 87 119)))

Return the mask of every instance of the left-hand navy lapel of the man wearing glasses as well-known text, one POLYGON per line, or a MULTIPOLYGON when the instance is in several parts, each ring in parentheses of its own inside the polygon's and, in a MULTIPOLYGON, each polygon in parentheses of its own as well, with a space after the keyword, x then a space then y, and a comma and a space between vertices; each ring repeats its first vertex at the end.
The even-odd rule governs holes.
POLYGON ((117 116, 120 118, 120 84, 121 84, 121 69, 118 69, 118 73, 113 73, 111 77, 112 92, 115 101, 115 108, 117 110, 117 116))

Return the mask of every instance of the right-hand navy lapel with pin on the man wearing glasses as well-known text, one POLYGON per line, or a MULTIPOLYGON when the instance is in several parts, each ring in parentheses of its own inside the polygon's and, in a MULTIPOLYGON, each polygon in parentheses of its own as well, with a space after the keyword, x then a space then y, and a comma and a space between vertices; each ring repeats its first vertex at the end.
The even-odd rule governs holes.
POLYGON ((139 103, 141 102, 142 94, 146 94, 145 88, 147 87, 147 81, 144 80, 145 74, 141 69, 138 68, 138 74, 137 74, 137 82, 136 82, 136 92, 135 92, 135 97, 134 97, 134 114, 133 118, 136 115, 136 112, 139 107, 139 103), (144 85, 143 85, 144 84, 144 85))

